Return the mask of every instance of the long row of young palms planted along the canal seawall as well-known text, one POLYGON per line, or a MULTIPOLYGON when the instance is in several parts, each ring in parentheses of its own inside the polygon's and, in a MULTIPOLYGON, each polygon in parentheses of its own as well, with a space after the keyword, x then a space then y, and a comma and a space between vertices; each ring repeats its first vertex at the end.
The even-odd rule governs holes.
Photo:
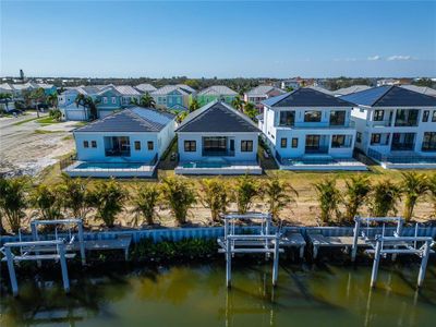
MULTIPOLYGON (((402 216, 413 217, 419 201, 428 198, 436 216, 436 174, 403 172, 401 181, 382 180, 373 183, 366 175, 346 179, 346 189, 339 190, 335 179, 313 184, 323 225, 352 223, 363 207, 374 217, 398 214, 398 203, 404 202, 402 216)), ((154 225, 157 208, 165 205, 179 225, 186 223, 187 211, 197 203, 210 210, 214 225, 221 223, 221 215, 234 203, 239 214, 253 209, 255 201, 264 202, 277 222, 284 208, 298 205, 299 193, 286 179, 277 174, 266 179, 242 175, 235 180, 209 178, 193 181, 183 177, 166 177, 158 182, 135 182, 133 190, 114 179, 90 183, 87 179, 62 175, 56 185, 32 184, 27 178, 0 178, 0 229, 7 222, 14 233, 22 227, 27 208, 37 209, 39 219, 80 217, 94 219, 106 227, 114 226, 124 209, 134 214, 134 226, 154 225), (128 208, 129 207, 129 208, 128 208)))

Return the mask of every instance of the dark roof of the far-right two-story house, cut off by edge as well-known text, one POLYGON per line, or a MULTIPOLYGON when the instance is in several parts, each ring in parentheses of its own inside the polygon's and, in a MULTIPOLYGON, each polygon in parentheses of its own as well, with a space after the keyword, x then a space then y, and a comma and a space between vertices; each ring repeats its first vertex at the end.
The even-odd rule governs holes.
POLYGON ((395 85, 385 85, 340 97, 368 107, 435 107, 436 98, 395 85))

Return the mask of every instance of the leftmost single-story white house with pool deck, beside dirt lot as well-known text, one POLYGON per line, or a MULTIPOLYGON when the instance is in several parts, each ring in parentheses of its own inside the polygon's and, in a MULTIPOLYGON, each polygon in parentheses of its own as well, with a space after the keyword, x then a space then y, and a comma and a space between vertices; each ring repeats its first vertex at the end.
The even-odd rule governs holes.
POLYGON ((174 116, 133 107, 74 130, 72 177, 150 177, 174 137, 174 116))

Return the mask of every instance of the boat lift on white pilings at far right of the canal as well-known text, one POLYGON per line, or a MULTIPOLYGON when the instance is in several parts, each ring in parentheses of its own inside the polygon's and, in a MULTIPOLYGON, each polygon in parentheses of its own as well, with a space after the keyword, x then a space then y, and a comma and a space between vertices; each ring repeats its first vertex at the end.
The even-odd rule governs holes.
POLYGON ((434 251, 431 249, 435 242, 431 237, 419 237, 417 230, 419 225, 415 225, 415 234, 413 237, 401 235, 404 220, 400 217, 367 217, 361 218, 355 217, 353 246, 351 251, 351 259, 355 259, 358 251, 359 238, 362 238, 365 244, 370 247, 365 250, 365 253, 374 254, 373 270, 371 274, 371 287, 375 287, 377 282, 378 266, 382 257, 387 257, 389 254, 392 255, 392 259, 399 254, 415 254, 421 257, 420 272, 417 277, 417 287, 421 288, 424 282, 425 271, 427 268, 428 256, 434 251), (383 222, 382 234, 370 234, 371 222, 383 222), (361 230, 361 223, 366 222, 366 229, 363 228, 361 237, 359 231, 361 230), (392 237, 385 235, 385 223, 396 222, 397 228, 392 237))

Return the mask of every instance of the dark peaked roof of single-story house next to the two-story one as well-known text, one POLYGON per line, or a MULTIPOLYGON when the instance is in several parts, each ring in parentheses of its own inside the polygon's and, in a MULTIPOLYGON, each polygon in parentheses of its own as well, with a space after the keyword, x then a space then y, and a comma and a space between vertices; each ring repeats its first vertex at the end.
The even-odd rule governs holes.
POLYGON ((243 113, 225 102, 211 102, 190 113, 177 132, 261 132, 243 113))

